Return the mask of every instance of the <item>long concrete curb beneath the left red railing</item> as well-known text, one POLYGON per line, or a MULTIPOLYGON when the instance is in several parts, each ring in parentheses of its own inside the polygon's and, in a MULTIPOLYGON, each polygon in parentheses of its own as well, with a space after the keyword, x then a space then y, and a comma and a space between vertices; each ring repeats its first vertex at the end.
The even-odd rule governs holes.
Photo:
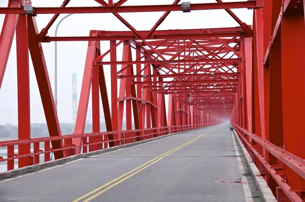
MULTIPOLYGON (((208 128, 210 126, 204 127, 204 128, 208 128)), ((193 129, 193 130, 188 130, 186 132, 190 132, 190 131, 195 131, 195 130, 200 130, 203 128, 199 128, 199 129, 193 129)), ((74 155, 74 156, 69 156, 66 158, 62 158, 62 159, 58 159, 58 160, 52 160, 52 161, 48 161, 48 162, 44 162, 44 163, 40 163, 40 164, 36 164, 36 165, 30 165, 30 166, 26 166, 26 167, 22 167, 20 169, 15 169, 12 171, 7 171, 4 173, 0 173, 0 180, 4 180, 4 179, 8 179, 8 178, 14 178, 20 175, 24 175, 24 174, 28 174, 28 173, 33 173, 33 172, 37 172, 43 169, 47 169, 49 167, 53 167, 55 165, 60 165, 60 164, 64 164, 67 162, 71 162, 80 158, 85 158, 85 157, 89 157, 89 156, 95 156, 95 155, 99 155, 99 154, 103 154, 103 153, 107 153, 110 151, 115 151, 115 150, 119 150, 119 149, 123 149, 123 148, 128 148, 128 147, 133 147, 136 145, 141 145, 144 143, 148 143, 148 142, 153 142, 156 140, 160 140, 163 138, 167 138, 170 136, 174 136, 176 134, 181 134, 181 133, 186 133, 186 132, 176 132, 176 133, 171 133, 171 134, 166 134, 165 136, 159 136, 156 138, 151 138, 148 140, 142 140, 139 142, 135 142, 135 143, 130 143, 130 144, 126 144, 126 145, 119 145, 116 147, 111 147, 111 148, 107 148, 107 149, 102 149, 102 150, 98 150, 98 151, 93 151, 93 152, 88 152, 88 153, 84 153, 84 154, 79 154, 79 155, 74 155)))

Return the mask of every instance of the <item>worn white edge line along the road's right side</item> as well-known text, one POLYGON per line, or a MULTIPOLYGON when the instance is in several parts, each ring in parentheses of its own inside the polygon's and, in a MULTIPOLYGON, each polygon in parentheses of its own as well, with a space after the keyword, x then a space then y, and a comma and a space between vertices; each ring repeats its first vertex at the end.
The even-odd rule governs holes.
POLYGON ((247 202, 253 202, 254 200, 253 200, 253 196, 252 196, 252 193, 251 193, 251 190, 250 190, 248 179, 245 175, 241 175, 242 173, 245 173, 245 170, 243 169, 241 158, 240 158, 240 156, 242 156, 242 154, 239 153, 239 151, 238 151, 238 148, 237 148, 237 145, 236 145, 236 140, 234 138, 233 132, 231 132, 231 133, 232 133, 235 153, 236 153, 236 156, 237 156, 237 163, 238 163, 238 167, 239 167, 239 174, 240 174, 240 177, 241 177, 243 192, 245 192, 246 201, 247 202))

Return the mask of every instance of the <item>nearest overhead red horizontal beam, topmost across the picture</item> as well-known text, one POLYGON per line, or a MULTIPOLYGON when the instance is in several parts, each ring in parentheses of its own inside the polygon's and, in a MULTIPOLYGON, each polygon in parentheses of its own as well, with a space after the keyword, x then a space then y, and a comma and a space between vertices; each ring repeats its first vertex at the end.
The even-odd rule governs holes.
MULTIPOLYGON (((261 0, 248 2, 226 2, 192 4, 191 10, 215 9, 258 9, 262 8, 261 0)), ((108 7, 48 7, 34 8, 34 14, 70 14, 70 13, 135 13, 135 12, 164 12, 181 11, 181 5, 145 5, 145 6, 108 6, 108 7)), ((23 8, 0 8, 0 14, 23 14, 23 8)))

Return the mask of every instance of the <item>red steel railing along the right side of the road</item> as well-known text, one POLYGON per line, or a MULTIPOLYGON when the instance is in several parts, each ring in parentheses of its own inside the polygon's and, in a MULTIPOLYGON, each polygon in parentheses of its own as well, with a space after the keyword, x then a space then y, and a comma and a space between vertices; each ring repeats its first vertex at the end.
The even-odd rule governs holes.
MULTIPOLYGON (((240 141, 248 150, 252 161, 255 162, 260 174, 266 176, 269 174, 279 185, 285 195, 291 201, 303 201, 300 197, 301 193, 305 192, 305 187, 292 186, 287 184, 287 178, 285 176, 285 167, 289 167, 298 176, 305 180, 305 160, 292 153, 286 151, 284 148, 278 147, 269 141, 257 136, 256 134, 242 128, 238 125, 232 124, 240 141), (255 142, 254 145, 252 142, 255 142), (258 145, 262 150, 258 150, 258 145), (278 164, 270 165, 268 159, 266 159, 263 152, 269 152, 269 154, 275 156, 278 159, 278 164)), ((305 151, 305 150, 304 150, 305 151)), ((264 178, 266 180, 266 178, 264 178)), ((281 191, 277 189, 278 196, 281 195, 281 191)), ((279 197, 278 197, 279 198, 279 197)), ((285 200, 286 201, 286 200, 285 200)))

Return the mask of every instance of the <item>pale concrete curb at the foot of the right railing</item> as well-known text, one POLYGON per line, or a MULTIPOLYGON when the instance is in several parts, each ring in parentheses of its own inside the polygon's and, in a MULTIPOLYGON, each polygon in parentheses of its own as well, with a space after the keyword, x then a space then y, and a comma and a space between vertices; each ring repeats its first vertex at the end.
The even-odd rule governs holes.
POLYGON ((262 200, 264 202, 277 202, 276 197, 272 194, 267 182, 260 175, 260 172, 258 171, 254 162, 252 162, 252 159, 250 157, 249 152, 247 151, 245 146, 243 146, 243 144, 239 140, 235 130, 234 130, 233 133, 234 133, 234 136, 237 140, 237 143, 238 143, 239 147, 241 148, 241 152, 242 152, 243 156, 245 157, 245 160, 246 160, 246 162, 248 164, 248 167, 249 167, 249 171, 252 175, 252 178, 254 179, 254 182, 255 182, 255 184, 258 188, 258 192, 259 192, 262 200))

